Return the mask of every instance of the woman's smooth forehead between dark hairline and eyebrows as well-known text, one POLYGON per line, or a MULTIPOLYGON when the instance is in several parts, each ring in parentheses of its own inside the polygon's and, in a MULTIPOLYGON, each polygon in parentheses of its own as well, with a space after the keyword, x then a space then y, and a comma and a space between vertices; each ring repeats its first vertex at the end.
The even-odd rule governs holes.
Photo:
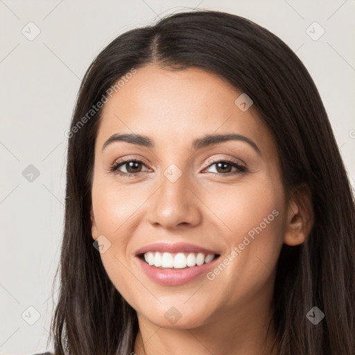
POLYGON ((235 101, 241 91, 216 74, 189 68, 172 71, 153 64, 121 81, 105 103, 96 144, 114 133, 152 137, 156 146, 189 145, 196 137, 233 132, 261 150, 275 149, 272 135, 254 107, 245 112, 235 101))

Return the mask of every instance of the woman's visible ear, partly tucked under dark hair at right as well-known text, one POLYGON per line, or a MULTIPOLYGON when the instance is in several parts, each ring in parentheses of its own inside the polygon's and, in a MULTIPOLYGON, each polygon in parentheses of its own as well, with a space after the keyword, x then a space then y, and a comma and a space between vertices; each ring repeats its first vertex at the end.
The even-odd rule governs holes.
POLYGON ((299 245, 304 243, 313 227, 313 205, 309 187, 297 187, 288 200, 284 243, 299 245))

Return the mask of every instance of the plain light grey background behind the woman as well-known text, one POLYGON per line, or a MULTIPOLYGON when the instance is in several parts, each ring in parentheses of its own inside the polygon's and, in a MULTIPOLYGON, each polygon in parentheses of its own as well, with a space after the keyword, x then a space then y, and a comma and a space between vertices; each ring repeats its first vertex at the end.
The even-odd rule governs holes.
MULTIPOLYGON (((196 6, 247 17, 297 53, 320 91, 354 185, 355 0, 0 0, 0 354, 46 349, 63 230, 64 131, 85 70, 120 33, 196 6), (40 28, 32 41, 21 33, 35 34, 30 21, 40 28), (314 21, 325 31, 316 41, 306 33, 314 21), (32 182, 22 175, 29 164, 40 171, 32 182), (40 313, 33 325, 29 306, 40 313)), ((314 36, 320 28, 308 31, 314 36)))

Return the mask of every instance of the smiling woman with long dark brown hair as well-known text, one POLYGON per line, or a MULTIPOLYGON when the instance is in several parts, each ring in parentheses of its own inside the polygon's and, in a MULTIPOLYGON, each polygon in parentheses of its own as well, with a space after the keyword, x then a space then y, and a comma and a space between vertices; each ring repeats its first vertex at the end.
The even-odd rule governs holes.
POLYGON ((355 354, 354 200, 277 36, 207 10, 123 33, 67 137, 55 354, 355 354))

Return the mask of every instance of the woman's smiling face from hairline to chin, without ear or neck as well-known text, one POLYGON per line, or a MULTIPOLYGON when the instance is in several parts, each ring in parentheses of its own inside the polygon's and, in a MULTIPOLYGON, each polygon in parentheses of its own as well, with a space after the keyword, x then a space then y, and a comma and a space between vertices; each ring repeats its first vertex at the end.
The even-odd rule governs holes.
POLYGON ((103 108, 92 236, 116 289, 159 327, 270 307, 284 189, 275 141, 241 94, 202 69, 150 64, 103 108))

